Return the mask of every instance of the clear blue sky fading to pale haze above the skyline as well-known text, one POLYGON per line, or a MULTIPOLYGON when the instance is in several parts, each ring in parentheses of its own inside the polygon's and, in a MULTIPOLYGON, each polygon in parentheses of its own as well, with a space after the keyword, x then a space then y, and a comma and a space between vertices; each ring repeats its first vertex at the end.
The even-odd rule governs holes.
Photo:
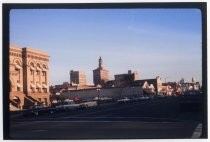
POLYGON ((101 56, 115 74, 139 79, 202 81, 202 25, 198 9, 13 9, 10 44, 48 52, 50 85, 70 70, 93 70, 101 56))

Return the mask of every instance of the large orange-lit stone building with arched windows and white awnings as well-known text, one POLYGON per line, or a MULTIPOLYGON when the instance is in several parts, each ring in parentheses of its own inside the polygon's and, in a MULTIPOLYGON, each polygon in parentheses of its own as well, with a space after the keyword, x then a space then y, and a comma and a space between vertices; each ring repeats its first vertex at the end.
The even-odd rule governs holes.
POLYGON ((9 48, 10 110, 50 105, 49 55, 31 48, 9 48))

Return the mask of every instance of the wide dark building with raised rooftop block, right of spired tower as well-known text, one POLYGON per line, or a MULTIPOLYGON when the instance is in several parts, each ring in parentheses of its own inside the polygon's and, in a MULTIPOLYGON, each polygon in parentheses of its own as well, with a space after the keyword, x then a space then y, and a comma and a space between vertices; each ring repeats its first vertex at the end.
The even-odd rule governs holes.
POLYGON ((126 87, 132 84, 135 80, 138 80, 138 73, 128 70, 128 73, 125 74, 117 74, 114 76, 116 87, 126 87))

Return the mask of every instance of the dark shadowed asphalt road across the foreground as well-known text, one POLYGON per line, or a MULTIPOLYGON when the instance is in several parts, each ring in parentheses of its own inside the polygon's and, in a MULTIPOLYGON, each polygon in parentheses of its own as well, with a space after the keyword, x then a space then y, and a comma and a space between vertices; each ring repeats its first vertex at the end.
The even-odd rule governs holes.
POLYGON ((33 117, 11 115, 9 135, 11 139, 199 138, 201 112, 183 109, 180 102, 159 98, 33 117))

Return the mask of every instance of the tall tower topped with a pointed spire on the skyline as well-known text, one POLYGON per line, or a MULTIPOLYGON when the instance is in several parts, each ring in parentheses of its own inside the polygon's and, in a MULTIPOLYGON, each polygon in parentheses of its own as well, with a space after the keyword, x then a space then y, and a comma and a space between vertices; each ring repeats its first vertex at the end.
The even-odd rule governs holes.
POLYGON ((109 71, 104 69, 103 60, 99 58, 99 66, 97 69, 93 70, 93 83, 96 85, 104 86, 104 84, 109 80, 109 71))

